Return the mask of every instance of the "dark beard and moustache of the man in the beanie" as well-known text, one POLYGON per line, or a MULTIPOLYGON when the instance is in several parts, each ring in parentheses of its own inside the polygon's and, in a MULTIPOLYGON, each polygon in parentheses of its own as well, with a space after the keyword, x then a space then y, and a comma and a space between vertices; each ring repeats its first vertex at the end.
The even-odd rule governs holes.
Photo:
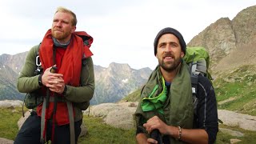
MULTIPOLYGON (((165 54, 164 57, 170 56, 174 58, 174 55, 172 54, 165 54)), ((166 70, 167 72, 172 72, 178 68, 179 63, 182 62, 182 58, 174 58, 174 62, 163 62, 158 60, 159 66, 162 67, 163 70, 166 70)))

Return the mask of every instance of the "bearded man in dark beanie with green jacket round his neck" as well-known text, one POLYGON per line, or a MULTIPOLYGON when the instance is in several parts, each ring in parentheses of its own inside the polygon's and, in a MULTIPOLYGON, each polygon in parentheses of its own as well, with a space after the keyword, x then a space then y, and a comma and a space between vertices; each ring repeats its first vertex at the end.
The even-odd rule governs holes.
POLYGON ((158 66, 141 91, 134 114, 138 143, 214 143, 218 114, 214 88, 208 78, 198 76, 196 113, 190 72, 182 58, 186 42, 170 27, 154 39, 158 66))

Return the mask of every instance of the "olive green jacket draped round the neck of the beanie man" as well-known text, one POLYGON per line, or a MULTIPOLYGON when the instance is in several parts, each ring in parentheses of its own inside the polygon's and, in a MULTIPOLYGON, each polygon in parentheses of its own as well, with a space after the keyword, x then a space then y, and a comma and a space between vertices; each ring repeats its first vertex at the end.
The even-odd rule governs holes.
MULTIPOLYGON (((159 113, 159 107, 155 110, 143 110, 143 106, 150 104, 148 101, 149 96, 152 98, 158 97, 162 93, 163 83, 162 74, 159 66, 152 72, 148 82, 142 89, 141 101, 138 103, 137 110, 134 114, 134 119, 136 122, 137 129, 143 131, 144 134, 147 134, 143 123, 148 119, 152 118, 154 115, 157 115, 158 118, 161 118, 169 126, 181 126, 182 128, 192 129, 193 120, 194 120, 194 105, 192 98, 190 74, 188 67, 185 62, 182 62, 181 68, 178 70, 173 82, 170 86, 170 92, 167 94, 165 102, 162 102, 162 111, 159 113), (158 86, 157 90, 154 90, 154 87, 158 86), (153 94, 153 95, 152 95, 153 94), (145 101, 146 100, 146 101, 145 101)), ((152 106, 150 106, 152 107, 152 106)), ((180 143, 174 138, 170 138, 171 143, 180 143)), ((181 142, 182 143, 182 142, 181 142)))

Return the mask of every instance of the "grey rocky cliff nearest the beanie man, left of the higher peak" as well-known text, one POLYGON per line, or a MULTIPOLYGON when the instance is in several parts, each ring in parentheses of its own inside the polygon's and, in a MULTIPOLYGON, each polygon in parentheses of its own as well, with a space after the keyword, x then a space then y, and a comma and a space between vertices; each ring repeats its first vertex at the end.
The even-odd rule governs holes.
POLYGON ((195 36, 188 46, 203 46, 210 53, 213 62, 218 62, 234 49, 236 39, 229 18, 220 18, 195 36))

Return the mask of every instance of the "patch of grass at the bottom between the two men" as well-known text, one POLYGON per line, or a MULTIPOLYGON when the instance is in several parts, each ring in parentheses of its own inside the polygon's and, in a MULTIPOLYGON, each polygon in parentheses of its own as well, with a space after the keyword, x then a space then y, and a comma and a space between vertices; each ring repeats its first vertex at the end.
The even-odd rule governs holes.
POLYGON ((84 116, 83 122, 88 128, 88 134, 78 143, 136 143, 135 129, 122 130, 106 125, 102 118, 84 116))

